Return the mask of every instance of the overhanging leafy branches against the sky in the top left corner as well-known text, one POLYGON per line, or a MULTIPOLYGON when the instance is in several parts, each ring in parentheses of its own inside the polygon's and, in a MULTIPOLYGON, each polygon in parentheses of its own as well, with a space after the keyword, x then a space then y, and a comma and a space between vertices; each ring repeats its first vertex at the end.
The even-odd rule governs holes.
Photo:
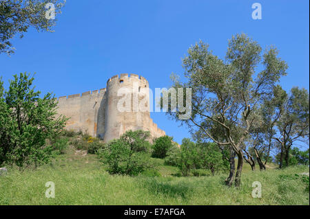
POLYGON ((14 53, 12 38, 19 34, 20 38, 34 27, 38 31, 54 32, 51 28, 56 19, 46 19, 45 5, 54 3, 55 14, 61 13, 65 1, 59 0, 1 0, 0 1, 0 54, 14 53))

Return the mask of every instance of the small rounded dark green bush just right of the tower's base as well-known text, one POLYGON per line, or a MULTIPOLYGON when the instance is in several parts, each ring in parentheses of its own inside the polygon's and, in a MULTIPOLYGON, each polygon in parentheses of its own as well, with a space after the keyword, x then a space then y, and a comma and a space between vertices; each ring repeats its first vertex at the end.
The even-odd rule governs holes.
POLYGON ((155 139, 152 146, 152 157, 165 158, 169 149, 173 147, 172 139, 172 137, 167 135, 155 139))

